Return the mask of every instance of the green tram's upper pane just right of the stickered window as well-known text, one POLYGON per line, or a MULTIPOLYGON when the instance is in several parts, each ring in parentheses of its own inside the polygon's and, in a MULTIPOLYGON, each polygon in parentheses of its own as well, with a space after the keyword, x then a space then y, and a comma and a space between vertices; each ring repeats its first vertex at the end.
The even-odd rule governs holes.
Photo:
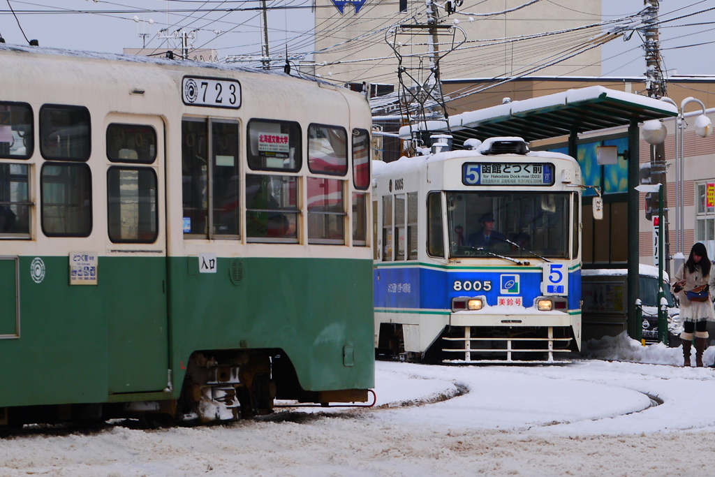
POLYGON ((347 174, 347 132, 342 127, 310 124, 308 127, 308 168, 310 172, 343 176, 347 174))

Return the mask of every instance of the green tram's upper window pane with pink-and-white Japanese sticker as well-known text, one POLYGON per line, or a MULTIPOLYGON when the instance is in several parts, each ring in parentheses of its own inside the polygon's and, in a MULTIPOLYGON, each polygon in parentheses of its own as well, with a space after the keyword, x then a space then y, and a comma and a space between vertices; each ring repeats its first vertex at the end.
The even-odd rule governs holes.
POLYGON ((302 165, 300 124, 251 119, 247 127, 248 167, 255 171, 298 172, 302 165))

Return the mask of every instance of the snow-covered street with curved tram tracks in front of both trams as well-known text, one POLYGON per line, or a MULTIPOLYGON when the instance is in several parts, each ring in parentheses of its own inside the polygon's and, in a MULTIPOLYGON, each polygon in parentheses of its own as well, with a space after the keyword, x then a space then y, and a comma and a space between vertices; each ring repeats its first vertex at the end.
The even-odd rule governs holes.
POLYGON ((621 336, 570 365, 378 362, 375 408, 26 430, 0 438, 0 476, 715 476, 715 370, 680 353, 621 336))

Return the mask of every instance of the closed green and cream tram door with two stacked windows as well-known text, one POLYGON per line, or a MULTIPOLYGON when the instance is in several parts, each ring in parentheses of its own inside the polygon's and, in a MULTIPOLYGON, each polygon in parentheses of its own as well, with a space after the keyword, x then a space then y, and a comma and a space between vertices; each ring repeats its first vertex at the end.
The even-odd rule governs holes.
POLYGON ((168 382, 164 124, 107 117, 109 393, 159 391, 168 382))

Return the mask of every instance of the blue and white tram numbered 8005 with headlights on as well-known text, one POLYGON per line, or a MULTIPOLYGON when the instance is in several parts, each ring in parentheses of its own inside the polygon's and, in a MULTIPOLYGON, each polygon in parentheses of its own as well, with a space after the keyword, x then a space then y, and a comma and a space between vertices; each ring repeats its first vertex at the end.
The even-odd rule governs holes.
POLYGON ((440 147, 373 162, 378 355, 543 363, 580 350, 576 160, 521 138, 440 147))

